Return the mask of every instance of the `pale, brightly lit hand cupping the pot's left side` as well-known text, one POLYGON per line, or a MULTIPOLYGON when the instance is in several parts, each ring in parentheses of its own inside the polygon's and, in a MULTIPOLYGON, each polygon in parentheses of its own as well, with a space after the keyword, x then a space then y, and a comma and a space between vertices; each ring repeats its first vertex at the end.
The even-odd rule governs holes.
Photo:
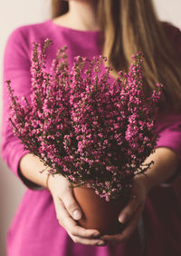
POLYGON ((52 193, 57 220, 68 232, 72 241, 94 246, 105 245, 106 242, 100 239, 99 231, 86 230, 77 224, 76 221, 81 219, 82 213, 74 200, 70 182, 62 175, 51 175, 48 187, 52 193))

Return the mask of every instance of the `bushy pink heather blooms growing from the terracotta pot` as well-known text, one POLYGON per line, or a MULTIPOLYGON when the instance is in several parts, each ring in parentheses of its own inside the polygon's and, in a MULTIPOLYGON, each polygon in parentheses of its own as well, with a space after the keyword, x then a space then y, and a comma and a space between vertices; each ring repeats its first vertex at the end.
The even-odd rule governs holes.
POLYGON ((106 58, 77 56, 73 66, 66 47, 58 51, 50 73, 45 50, 52 42, 33 44, 31 103, 20 102, 8 81, 14 134, 29 150, 71 183, 85 184, 107 201, 128 190, 134 176, 146 172, 144 160, 157 143, 157 102, 143 93, 141 53, 129 73, 110 83, 106 58))

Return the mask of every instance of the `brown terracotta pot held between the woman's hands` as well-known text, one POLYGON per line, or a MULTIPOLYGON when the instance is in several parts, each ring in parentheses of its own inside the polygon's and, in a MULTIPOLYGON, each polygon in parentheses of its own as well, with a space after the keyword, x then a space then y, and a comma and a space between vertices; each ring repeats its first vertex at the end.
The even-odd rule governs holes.
POLYGON ((86 187, 75 187, 73 192, 83 212, 83 217, 79 221, 82 227, 96 229, 102 234, 116 234, 123 229, 118 216, 128 203, 128 198, 120 196, 117 200, 106 202, 93 189, 86 187))

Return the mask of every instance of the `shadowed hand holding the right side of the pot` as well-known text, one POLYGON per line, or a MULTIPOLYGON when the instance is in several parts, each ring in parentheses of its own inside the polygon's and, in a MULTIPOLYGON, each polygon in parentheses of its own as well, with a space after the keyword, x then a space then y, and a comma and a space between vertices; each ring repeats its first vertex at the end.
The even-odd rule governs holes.
POLYGON ((125 224, 124 230, 116 235, 103 235, 100 238, 108 243, 119 243, 128 240, 137 228, 148 194, 147 177, 144 174, 135 176, 132 197, 127 206, 119 214, 119 222, 125 224))

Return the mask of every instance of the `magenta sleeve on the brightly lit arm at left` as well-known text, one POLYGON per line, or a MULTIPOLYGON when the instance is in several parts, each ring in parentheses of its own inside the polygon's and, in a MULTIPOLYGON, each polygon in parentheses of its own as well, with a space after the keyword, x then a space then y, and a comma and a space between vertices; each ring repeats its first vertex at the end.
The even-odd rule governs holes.
POLYGON ((30 74, 30 57, 28 45, 26 43, 23 27, 19 27, 10 34, 4 54, 4 71, 3 71, 3 120, 2 120, 2 142, 1 155, 7 166, 18 176, 26 186, 31 189, 37 189, 39 186, 27 180, 19 170, 19 162, 24 154, 24 146, 21 141, 14 136, 12 127, 8 122, 9 118, 9 98, 7 92, 6 80, 11 80, 14 94, 21 98, 25 95, 30 99, 31 74, 30 74))

